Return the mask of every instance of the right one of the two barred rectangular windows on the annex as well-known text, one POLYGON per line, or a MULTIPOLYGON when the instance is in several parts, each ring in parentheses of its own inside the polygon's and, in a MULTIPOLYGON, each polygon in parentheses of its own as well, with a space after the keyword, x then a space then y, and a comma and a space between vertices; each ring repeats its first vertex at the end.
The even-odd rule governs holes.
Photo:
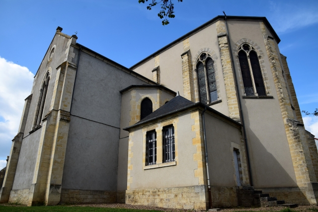
POLYGON ((163 141, 162 141, 162 162, 175 161, 175 147, 174 147, 174 127, 169 126, 163 128, 163 141))

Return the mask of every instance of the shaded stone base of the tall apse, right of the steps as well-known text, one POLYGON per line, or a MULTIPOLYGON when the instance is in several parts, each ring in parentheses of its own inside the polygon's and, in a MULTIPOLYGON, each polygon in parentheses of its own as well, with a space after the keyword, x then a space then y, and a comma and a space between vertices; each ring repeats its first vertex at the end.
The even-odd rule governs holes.
POLYGON ((286 204, 311 204, 306 198, 306 191, 301 191, 298 187, 257 188, 255 190, 262 190, 263 194, 269 194, 270 197, 276 197, 277 200, 284 200, 286 204))

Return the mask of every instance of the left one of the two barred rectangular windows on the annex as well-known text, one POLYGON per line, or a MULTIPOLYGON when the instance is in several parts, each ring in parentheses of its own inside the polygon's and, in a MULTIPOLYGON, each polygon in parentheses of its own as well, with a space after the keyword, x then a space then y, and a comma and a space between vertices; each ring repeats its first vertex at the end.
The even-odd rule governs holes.
POLYGON ((155 165, 157 161, 157 134, 156 131, 146 135, 146 166, 155 165))

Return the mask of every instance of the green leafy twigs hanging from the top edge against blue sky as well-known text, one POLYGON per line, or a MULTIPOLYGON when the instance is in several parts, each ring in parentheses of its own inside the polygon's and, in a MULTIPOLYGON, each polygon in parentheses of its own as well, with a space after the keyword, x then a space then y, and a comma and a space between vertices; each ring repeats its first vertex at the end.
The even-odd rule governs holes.
MULTIPOLYGON (((148 0, 146 0, 148 1, 148 0)), ((145 3, 145 0, 138 0, 139 3, 145 3)), ((178 2, 182 2, 182 0, 178 0, 178 2)), ((168 18, 174 18, 175 15, 173 14, 174 11, 174 4, 172 3, 172 0, 160 0, 159 2, 157 0, 152 0, 152 3, 150 3, 147 6, 147 9, 151 10, 153 6, 156 6, 158 3, 161 3, 161 10, 158 13, 158 17, 162 20, 162 25, 169 24, 168 18)))

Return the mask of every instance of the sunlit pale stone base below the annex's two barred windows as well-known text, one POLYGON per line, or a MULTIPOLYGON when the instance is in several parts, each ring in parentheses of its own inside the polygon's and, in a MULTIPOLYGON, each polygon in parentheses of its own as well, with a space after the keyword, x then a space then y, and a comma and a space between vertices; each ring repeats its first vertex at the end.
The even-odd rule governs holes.
POLYGON ((126 190, 126 204, 170 209, 207 210, 206 186, 126 190))

